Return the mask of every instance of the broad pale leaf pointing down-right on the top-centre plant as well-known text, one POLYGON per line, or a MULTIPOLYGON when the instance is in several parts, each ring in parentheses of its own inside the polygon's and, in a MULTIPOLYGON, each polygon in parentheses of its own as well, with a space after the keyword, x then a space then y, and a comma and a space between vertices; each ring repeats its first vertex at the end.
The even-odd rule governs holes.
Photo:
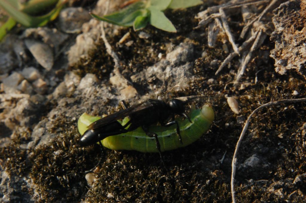
POLYGON ((150 6, 148 10, 150 10, 151 25, 167 32, 176 32, 174 25, 159 9, 155 8, 154 6, 150 6))

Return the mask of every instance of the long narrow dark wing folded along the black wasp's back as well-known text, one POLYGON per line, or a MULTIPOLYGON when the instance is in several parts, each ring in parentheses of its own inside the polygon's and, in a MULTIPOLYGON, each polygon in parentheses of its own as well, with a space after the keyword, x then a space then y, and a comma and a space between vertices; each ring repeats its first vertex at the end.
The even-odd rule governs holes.
POLYGON ((148 107, 151 107, 151 105, 149 103, 139 103, 139 104, 136 104, 136 105, 133 105, 129 108, 126 108, 126 109, 123 109, 123 110, 120 110, 114 114, 110 114, 110 115, 107 115, 103 118, 100 118, 99 120, 91 123, 90 125, 87 126, 88 130, 91 130, 91 129, 97 129, 97 128, 100 128, 100 127, 103 127, 105 125, 108 125, 114 121, 117 121, 119 119, 123 119, 133 113, 137 113, 137 112, 140 112, 140 111, 143 111, 144 109, 147 109, 148 107))

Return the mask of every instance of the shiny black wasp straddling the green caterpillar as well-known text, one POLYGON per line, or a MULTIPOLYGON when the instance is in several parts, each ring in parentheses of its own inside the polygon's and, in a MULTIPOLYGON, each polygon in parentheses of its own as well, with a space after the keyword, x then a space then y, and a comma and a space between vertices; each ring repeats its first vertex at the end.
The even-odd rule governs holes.
POLYGON ((185 104, 188 101, 189 100, 182 101, 179 99, 171 99, 166 103, 162 100, 149 99, 143 103, 127 107, 125 101, 122 100, 121 105, 123 110, 91 123, 91 125, 88 126, 88 130, 86 130, 80 138, 79 144, 80 146, 89 146, 108 136, 119 135, 141 127, 147 136, 155 138, 156 147, 160 153, 160 145, 157 139, 158 135, 154 132, 149 132, 149 126, 155 123, 160 123, 160 125, 166 127, 176 124, 176 132, 181 141, 180 128, 174 116, 175 114, 184 116, 191 122, 190 118, 185 113, 185 104), (130 120, 122 126, 117 120, 127 116, 130 120), (170 118, 171 121, 169 121, 170 118))

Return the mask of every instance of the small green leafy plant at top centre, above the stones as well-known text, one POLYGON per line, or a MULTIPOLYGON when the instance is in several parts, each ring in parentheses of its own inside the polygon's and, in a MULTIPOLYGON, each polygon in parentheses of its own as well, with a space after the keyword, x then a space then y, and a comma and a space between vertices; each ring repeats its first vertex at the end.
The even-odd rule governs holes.
POLYGON ((150 23, 158 29, 176 32, 174 25, 162 11, 166 9, 183 9, 202 3, 200 0, 140 0, 110 15, 102 17, 93 13, 91 15, 96 19, 111 24, 125 27, 133 26, 135 31, 146 27, 150 23))

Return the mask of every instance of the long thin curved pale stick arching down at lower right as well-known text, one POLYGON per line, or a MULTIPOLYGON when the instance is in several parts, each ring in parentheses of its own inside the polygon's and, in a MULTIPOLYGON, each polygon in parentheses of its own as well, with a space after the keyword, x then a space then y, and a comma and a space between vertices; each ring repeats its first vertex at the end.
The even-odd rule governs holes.
POLYGON ((288 99, 288 100, 279 100, 279 101, 274 101, 274 102, 269 102, 269 103, 265 103, 263 105, 261 105, 260 107, 258 107, 257 109, 255 109, 249 116, 247 121, 244 124, 244 127, 241 131, 240 137, 238 139, 238 142, 236 144, 236 148, 235 148, 235 152, 233 155, 233 160, 232 160, 232 176, 231 176, 231 193, 232 193, 232 202, 235 203, 235 173, 236 173, 236 164, 237 164, 237 154, 238 154, 238 150, 240 147, 240 144, 242 142, 242 139, 244 137, 245 132, 248 129, 248 125, 250 123, 251 117, 259 110, 263 109, 264 107, 271 107, 271 106, 275 106, 275 105, 279 105, 282 103, 295 103, 295 102, 306 102, 306 98, 301 98, 301 99, 288 99))

